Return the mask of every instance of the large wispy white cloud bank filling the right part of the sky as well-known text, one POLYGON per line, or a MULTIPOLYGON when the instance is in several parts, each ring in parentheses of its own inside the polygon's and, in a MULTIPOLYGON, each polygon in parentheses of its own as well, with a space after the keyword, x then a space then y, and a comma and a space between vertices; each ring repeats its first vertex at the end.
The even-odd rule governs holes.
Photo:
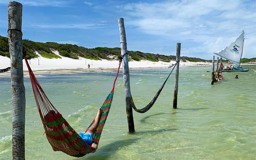
MULTIPOLYGON (((256 3, 242 0, 181 0, 128 3, 117 6, 126 12, 126 25, 141 32, 193 44, 184 54, 213 52, 229 45, 245 31, 247 56, 256 56, 256 3), (250 4, 248 4, 250 3, 250 4)), ((186 43, 188 44, 188 43, 186 43)), ((210 56, 209 56, 210 57, 210 56)))

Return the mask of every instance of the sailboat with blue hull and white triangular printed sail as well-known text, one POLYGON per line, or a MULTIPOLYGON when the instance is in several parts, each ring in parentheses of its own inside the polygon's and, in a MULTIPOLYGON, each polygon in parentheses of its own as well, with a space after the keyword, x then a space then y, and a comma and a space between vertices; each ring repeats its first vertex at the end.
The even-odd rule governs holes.
POLYGON ((226 58, 230 60, 232 63, 234 63, 236 67, 234 66, 227 66, 225 69, 222 69, 222 72, 247 72, 249 69, 243 69, 242 66, 240 66, 240 60, 243 54, 243 47, 244 47, 244 30, 241 32, 241 34, 237 37, 235 41, 233 41, 229 46, 217 51, 216 55, 219 55, 223 58, 226 58))

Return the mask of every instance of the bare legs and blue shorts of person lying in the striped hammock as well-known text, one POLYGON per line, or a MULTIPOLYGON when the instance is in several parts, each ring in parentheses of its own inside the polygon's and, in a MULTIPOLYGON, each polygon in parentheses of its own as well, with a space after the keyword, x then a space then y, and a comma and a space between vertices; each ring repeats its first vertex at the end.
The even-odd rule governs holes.
POLYGON ((90 126, 88 129, 84 129, 83 132, 79 133, 80 137, 89 145, 91 145, 93 148, 97 149, 98 145, 95 143, 92 143, 93 134, 96 132, 98 125, 100 123, 100 118, 102 116, 103 110, 99 108, 97 115, 95 117, 95 122, 90 126))

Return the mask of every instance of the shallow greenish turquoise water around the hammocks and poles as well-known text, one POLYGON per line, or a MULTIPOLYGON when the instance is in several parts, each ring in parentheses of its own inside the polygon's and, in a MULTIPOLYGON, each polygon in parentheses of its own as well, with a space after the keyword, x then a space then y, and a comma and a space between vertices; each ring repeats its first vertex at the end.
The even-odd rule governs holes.
MULTIPOLYGON (((128 134, 122 73, 97 152, 92 159, 255 159, 256 66, 249 72, 223 73, 210 85, 210 67, 180 68, 178 108, 172 109, 174 73, 148 112, 134 112, 135 134, 128 134), (234 79, 235 75, 239 79, 234 79)), ((246 67, 245 67, 246 68, 246 67)), ((170 69, 130 72, 134 102, 150 102, 170 69)), ((111 90, 115 73, 76 73, 38 77, 48 98, 80 132, 90 124, 111 90)), ((26 88, 26 159, 77 159, 54 152, 44 133, 30 79, 26 88)), ((10 78, 0 77, 0 159, 11 159, 10 78)))

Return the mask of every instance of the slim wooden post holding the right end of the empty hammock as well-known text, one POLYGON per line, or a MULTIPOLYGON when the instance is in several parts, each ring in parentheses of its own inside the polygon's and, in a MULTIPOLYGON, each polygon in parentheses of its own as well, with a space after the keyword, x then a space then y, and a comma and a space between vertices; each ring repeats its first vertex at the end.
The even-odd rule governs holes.
POLYGON ((176 46, 176 62, 177 62, 177 65, 176 65, 176 68, 175 68, 174 95, 173 95, 173 108, 174 109, 177 108, 180 55, 181 55, 181 43, 177 43, 177 46, 176 46))

